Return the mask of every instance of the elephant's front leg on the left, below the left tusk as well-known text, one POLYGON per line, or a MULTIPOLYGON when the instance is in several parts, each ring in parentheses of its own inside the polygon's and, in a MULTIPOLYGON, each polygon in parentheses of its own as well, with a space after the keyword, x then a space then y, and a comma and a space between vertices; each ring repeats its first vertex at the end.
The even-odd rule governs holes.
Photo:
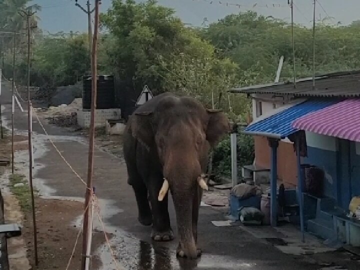
POLYGON ((155 241, 170 241, 173 240, 174 235, 167 209, 168 196, 166 194, 162 201, 157 199, 161 185, 162 181, 153 179, 151 186, 148 187, 153 220, 151 238, 155 241))

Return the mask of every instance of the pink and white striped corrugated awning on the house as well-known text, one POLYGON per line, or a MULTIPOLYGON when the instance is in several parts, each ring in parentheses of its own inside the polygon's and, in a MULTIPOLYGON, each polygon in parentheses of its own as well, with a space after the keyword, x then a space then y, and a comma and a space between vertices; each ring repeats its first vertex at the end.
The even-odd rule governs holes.
POLYGON ((360 142, 360 99, 347 99, 292 122, 292 127, 360 142))

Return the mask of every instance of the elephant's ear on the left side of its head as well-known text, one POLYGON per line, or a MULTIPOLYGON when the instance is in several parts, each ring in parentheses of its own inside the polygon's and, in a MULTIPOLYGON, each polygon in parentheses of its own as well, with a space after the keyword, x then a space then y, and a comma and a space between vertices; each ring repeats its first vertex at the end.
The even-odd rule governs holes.
POLYGON ((135 112, 131 115, 131 134, 147 149, 150 148, 150 145, 153 143, 154 140, 154 132, 152 129, 151 121, 151 111, 135 112))

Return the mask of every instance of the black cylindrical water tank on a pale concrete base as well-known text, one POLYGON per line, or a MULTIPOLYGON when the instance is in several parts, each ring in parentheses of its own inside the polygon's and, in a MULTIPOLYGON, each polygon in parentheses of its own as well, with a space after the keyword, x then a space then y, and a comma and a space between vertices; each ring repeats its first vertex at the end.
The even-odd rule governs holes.
MULTIPOLYGON (((91 76, 82 78, 82 109, 91 108, 91 76)), ((115 91, 113 76, 97 76, 96 109, 108 109, 115 107, 115 91)))

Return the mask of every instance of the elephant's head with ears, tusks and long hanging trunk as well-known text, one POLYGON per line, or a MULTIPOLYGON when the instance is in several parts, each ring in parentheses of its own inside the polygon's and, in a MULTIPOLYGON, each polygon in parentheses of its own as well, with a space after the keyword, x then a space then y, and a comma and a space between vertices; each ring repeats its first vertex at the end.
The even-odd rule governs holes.
POLYGON ((159 200, 169 188, 181 249, 196 257, 193 218, 197 224, 199 188, 207 188, 203 173, 208 151, 230 131, 229 121, 222 111, 205 109, 191 97, 163 94, 150 101, 131 116, 131 132, 146 148, 157 150, 164 177, 159 200))

